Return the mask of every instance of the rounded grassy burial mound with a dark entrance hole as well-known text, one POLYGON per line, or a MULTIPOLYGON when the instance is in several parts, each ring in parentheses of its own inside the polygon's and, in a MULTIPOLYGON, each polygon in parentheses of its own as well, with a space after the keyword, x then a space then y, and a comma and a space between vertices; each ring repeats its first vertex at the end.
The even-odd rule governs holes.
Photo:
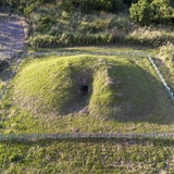
POLYGON ((16 74, 12 94, 15 103, 35 114, 139 120, 156 105, 149 76, 122 57, 35 59, 16 74))

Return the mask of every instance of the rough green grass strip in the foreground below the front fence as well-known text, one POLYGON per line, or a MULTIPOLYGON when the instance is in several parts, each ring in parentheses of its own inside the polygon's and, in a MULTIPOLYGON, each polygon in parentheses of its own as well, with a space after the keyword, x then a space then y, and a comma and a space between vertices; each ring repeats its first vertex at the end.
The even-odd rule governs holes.
POLYGON ((173 173, 173 141, 0 142, 1 173, 173 173))

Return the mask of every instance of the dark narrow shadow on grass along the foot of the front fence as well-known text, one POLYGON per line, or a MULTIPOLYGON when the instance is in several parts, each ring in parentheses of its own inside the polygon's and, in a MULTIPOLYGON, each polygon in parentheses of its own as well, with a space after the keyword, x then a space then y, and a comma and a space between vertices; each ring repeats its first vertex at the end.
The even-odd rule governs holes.
POLYGON ((142 145, 149 146, 153 145, 156 147, 171 147, 174 146, 174 139, 162 139, 162 138, 69 138, 69 139, 45 139, 45 140, 0 140, 0 144, 4 145, 26 145, 47 147, 50 144, 107 144, 107 145, 122 145, 122 146, 134 146, 142 145))

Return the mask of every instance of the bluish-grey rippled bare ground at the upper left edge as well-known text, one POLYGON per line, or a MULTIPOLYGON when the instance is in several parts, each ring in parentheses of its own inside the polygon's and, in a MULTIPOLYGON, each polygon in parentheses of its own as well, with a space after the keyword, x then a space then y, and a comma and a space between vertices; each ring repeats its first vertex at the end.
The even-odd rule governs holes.
POLYGON ((13 16, 0 21, 0 60, 17 59, 24 49, 24 28, 20 18, 13 16))

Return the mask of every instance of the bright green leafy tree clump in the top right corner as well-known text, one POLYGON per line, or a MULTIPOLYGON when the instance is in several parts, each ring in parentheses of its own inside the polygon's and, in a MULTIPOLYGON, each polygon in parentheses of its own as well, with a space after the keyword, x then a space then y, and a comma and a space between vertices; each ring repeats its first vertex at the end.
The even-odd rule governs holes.
POLYGON ((170 0, 139 0, 129 8, 129 17, 140 25, 174 22, 174 8, 170 0))

